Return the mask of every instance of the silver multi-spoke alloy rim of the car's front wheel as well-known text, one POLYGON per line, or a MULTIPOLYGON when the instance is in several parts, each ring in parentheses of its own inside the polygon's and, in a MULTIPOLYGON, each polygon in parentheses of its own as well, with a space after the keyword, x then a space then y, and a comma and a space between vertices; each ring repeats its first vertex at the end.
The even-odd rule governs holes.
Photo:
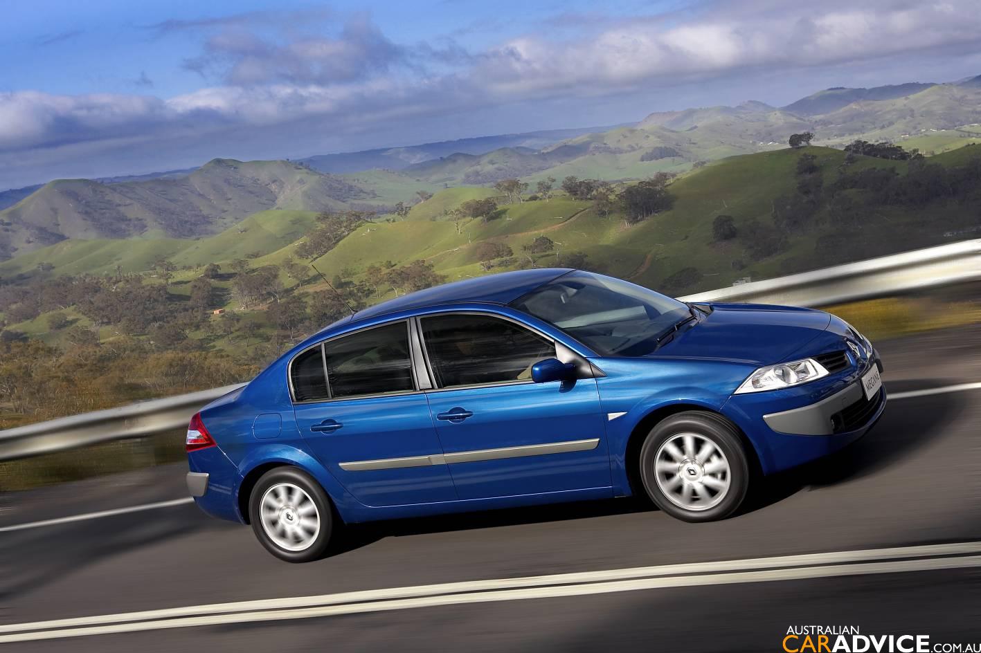
POLYGON ((657 486, 685 510, 708 510, 729 492, 729 461, 715 442, 697 433, 666 439, 654 456, 657 486))

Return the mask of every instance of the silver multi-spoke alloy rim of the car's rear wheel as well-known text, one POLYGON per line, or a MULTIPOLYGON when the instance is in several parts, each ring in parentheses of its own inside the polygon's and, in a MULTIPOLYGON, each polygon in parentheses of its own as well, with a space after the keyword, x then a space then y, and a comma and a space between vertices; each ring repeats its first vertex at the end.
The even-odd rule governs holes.
POLYGON ((304 551, 320 534, 320 512, 306 491, 293 483, 276 483, 259 502, 262 529, 286 551, 304 551))

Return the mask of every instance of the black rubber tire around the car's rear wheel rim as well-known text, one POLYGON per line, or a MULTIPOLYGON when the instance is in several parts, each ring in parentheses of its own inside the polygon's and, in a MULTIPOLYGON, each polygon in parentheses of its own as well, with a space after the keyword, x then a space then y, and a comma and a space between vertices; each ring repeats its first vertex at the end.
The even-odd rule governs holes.
MULTIPOLYGON (((302 499, 298 503, 301 507, 306 506, 305 501, 302 499)), ((287 506, 286 510, 290 510, 290 506, 287 506)), ((278 467, 262 475, 249 495, 248 512, 252 531, 255 533, 259 542, 274 556, 290 563, 310 562, 323 557, 327 552, 327 547, 331 543, 331 535, 335 529, 334 505, 331 503, 327 492, 324 491, 324 488, 313 477, 310 477, 310 475, 295 467, 278 467), (264 526, 262 516, 260 515, 261 502, 263 497, 266 496, 267 491, 274 486, 279 486, 283 491, 289 489, 290 486, 297 487, 305 492, 314 506, 316 506, 316 518, 319 528, 309 543, 298 541, 294 544, 296 546, 303 546, 302 549, 289 550, 284 548, 283 545, 278 543, 267 532, 267 526, 264 526)), ((294 510, 292 514, 296 515, 297 512, 298 510, 294 510)), ((296 517, 295 519, 299 520, 301 518, 296 517)), ((298 521, 297 525, 299 525, 298 521)))

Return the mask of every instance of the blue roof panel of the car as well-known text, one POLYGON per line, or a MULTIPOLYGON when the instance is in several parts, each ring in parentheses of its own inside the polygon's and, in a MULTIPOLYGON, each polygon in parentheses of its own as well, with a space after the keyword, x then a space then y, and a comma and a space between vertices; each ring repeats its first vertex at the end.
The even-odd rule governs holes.
POLYGON ((426 308, 441 304, 487 303, 508 304, 553 278, 572 272, 570 268, 537 268, 489 276, 475 276, 443 283, 442 285, 410 292, 381 304, 358 311, 346 324, 361 322, 407 309, 426 308))

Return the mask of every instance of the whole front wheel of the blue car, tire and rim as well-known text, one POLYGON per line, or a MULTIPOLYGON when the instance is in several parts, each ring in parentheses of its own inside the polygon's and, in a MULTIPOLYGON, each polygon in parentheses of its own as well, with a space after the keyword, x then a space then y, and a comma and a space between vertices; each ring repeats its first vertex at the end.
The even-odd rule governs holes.
POLYGON ((641 447, 647 496, 686 522, 732 515, 749 487, 749 462, 735 427, 712 413, 678 413, 653 427, 641 447))

